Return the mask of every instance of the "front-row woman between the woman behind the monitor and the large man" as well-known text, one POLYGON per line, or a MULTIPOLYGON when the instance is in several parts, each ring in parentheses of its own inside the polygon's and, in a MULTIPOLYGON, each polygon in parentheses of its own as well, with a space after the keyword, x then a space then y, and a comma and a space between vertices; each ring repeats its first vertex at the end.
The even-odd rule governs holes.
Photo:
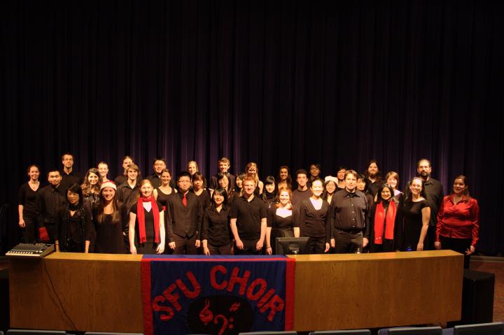
POLYGON ((312 254, 329 251, 331 236, 331 211, 327 201, 322 199, 323 182, 315 179, 311 182, 311 197, 302 201, 299 209, 301 236, 309 237, 309 249, 312 254))

